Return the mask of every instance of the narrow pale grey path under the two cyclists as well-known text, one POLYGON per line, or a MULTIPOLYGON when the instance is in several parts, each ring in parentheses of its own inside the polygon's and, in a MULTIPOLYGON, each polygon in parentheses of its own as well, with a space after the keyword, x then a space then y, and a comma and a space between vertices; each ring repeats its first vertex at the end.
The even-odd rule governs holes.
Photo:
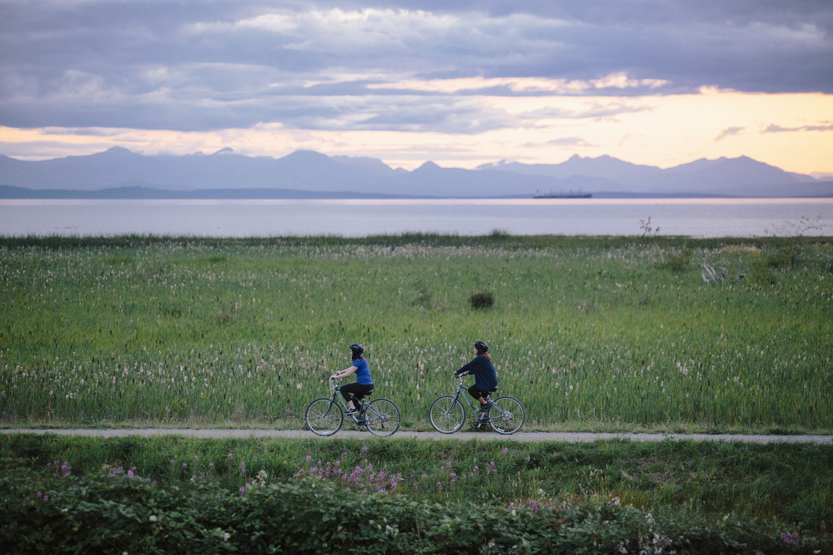
MULTIPOLYGON (((372 438, 367 432, 341 430, 330 438, 321 438, 307 430, 270 430, 270 429, 5 429, 3 434, 56 434, 84 435, 102 438, 123 438, 131 435, 142 437, 158 435, 182 435, 191 438, 292 438, 327 440, 330 438, 372 438)), ((397 432, 391 439, 480 439, 483 441, 561 441, 571 444, 586 443, 604 439, 624 439, 626 441, 647 442, 664 441, 726 441, 746 444, 821 444, 833 445, 830 435, 741 435, 741 434, 592 434, 573 432, 519 432, 514 435, 499 435, 489 432, 457 432, 446 435, 436 432, 397 432)))

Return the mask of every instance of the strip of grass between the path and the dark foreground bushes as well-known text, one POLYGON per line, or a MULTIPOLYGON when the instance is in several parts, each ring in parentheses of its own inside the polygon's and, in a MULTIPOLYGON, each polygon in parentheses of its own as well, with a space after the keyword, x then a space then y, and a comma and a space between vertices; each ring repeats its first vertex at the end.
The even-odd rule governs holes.
POLYGON ((232 491, 261 469, 272 478, 310 474, 357 493, 406 493, 419 502, 509 503, 620 498, 646 511, 705 522, 726 514, 766 527, 818 531, 833 522, 833 448, 666 441, 519 444, 414 439, 142 439, 0 435, 0 458, 32 468, 67 461, 76 475, 132 468, 160 485, 192 480, 232 491))

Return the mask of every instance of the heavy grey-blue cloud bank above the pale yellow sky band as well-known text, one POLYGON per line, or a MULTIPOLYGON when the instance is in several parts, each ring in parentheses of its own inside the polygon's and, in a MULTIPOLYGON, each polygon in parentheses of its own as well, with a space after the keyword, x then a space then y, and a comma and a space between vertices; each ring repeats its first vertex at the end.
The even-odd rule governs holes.
POLYGON ((833 92, 831 28, 826 0, 7 0, 0 125, 476 133, 526 117, 484 92, 833 92))

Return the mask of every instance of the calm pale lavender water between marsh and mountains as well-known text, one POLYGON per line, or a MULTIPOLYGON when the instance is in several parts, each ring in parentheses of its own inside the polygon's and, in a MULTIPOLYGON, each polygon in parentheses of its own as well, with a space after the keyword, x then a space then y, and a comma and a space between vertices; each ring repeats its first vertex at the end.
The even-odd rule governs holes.
POLYGON ((801 216, 833 235, 833 199, 0 200, 0 235, 641 235, 649 216, 661 235, 766 235, 801 216))

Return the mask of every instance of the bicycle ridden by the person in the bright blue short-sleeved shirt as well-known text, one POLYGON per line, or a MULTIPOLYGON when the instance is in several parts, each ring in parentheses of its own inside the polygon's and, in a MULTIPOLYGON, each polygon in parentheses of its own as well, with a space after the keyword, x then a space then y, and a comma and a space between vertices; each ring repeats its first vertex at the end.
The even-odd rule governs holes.
MULTIPOLYGON (((332 435, 342 429, 344 411, 348 409, 347 403, 339 394, 341 388, 338 387, 337 380, 330 378, 330 389, 332 395, 329 398, 315 399, 307 405, 304 419, 313 434, 332 435), (341 406, 336 399, 341 402, 341 406)), ((390 399, 363 402, 362 409, 357 414, 350 414, 350 417, 359 429, 365 428, 371 434, 382 437, 395 434, 402 422, 399 407, 390 399)))

